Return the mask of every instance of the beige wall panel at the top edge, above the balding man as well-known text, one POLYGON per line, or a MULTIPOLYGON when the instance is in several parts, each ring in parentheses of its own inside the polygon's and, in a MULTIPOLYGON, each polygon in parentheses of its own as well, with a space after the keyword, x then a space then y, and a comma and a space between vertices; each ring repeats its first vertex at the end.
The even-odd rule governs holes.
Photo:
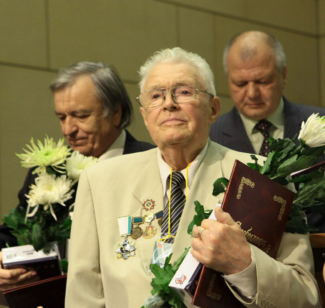
POLYGON ((315 1, 246 0, 248 19, 298 31, 317 33, 315 1))

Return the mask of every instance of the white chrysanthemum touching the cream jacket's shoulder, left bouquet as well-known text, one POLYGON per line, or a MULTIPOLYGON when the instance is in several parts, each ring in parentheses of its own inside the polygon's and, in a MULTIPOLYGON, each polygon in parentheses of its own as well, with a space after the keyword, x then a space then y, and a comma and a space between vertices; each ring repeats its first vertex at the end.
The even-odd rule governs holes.
POLYGON ((66 173, 73 181, 78 181, 83 170, 98 161, 92 156, 84 156, 78 151, 73 151, 71 156, 66 159, 66 173))

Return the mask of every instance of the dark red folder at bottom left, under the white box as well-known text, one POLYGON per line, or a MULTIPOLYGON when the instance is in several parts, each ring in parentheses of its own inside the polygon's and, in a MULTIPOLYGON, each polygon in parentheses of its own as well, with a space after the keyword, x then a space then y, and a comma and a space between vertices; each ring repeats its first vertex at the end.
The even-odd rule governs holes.
POLYGON ((9 308, 64 308, 66 274, 3 291, 9 308))

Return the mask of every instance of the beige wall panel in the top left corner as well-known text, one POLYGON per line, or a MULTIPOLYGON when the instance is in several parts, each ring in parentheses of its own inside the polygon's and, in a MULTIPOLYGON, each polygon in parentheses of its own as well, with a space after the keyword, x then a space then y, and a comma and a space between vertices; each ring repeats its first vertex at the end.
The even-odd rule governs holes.
POLYGON ((43 0, 0 0, 0 60, 46 65, 43 0))

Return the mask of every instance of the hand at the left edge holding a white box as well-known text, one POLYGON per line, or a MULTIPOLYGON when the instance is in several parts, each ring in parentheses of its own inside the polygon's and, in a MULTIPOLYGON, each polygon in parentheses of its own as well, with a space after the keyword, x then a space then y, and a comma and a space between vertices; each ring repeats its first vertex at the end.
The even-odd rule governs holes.
MULTIPOLYGON (((0 265, 2 263, 2 252, 0 252, 0 265)), ((37 281, 37 273, 35 271, 27 271, 25 269, 4 270, 0 267, 0 291, 26 285, 37 281)))

